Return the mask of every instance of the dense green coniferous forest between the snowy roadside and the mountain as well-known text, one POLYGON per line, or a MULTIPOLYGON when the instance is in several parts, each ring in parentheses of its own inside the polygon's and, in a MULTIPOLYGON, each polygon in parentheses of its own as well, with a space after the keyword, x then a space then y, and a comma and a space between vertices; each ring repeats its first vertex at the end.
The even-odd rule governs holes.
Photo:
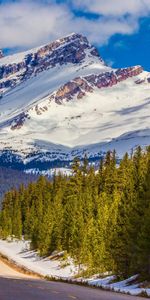
POLYGON ((72 172, 7 192, 1 238, 23 235, 40 255, 65 250, 91 274, 150 278, 150 147, 120 163, 108 152, 97 172, 75 159, 72 172))

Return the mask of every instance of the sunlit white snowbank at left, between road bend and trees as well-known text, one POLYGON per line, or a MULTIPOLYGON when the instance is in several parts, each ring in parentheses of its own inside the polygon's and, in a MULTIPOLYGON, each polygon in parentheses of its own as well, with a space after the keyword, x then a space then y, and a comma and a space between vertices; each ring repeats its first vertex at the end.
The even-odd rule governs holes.
POLYGON ((77 273, 77 268, 70 259, 69 264, 63 267, 63 261, 41 258, 35 251, 29 250, 28 241, 0 240, 0 253, 31 271, 43 276, 70 278, 77 273))

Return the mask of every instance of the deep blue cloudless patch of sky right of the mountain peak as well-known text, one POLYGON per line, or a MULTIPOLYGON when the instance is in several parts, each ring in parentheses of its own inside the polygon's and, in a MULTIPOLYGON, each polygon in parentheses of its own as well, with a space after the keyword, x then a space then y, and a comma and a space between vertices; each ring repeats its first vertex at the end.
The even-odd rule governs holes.
POLYGON ((139 31, 132 35, 114 35, 100 47, 103 58, 114 67, 142 65, 150 71, 150 18, 140 21, 139 31))

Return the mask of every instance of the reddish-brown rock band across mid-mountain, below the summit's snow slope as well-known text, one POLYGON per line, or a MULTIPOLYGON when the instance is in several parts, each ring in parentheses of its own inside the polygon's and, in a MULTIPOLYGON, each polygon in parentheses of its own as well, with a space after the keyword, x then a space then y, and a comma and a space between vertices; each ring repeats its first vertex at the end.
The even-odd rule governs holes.
MULTIPOLYGON (((95 88, 110 88, 113 85, 118 84, 121 81, 124 81, 128 78, 139 75, 143 72, 141 66, 134 66, 124 69, 118 69, 116 71, 105 72, 101 74, 91 74, 85 77, 77 77, 63 86, 61 86, 56 92, 54 92, 49 97, 50 102, 55 102, 56 104, 63 104, 63 101, 71 101, 74 97, 77 100, 82 99, 86 94, 93 93, 95 88)), ((136 82, 137 83, 137 82, 136 82)), ((21 113, 12 121, 10 121, 11 130, 20 129, 27 119, 30 119, 30 112, 33 110, 35 114, 42 115, 47 112, 49 109, 49 104, 43 106, 36 104, 31 109, 27 110, 26 113, 21 113)))

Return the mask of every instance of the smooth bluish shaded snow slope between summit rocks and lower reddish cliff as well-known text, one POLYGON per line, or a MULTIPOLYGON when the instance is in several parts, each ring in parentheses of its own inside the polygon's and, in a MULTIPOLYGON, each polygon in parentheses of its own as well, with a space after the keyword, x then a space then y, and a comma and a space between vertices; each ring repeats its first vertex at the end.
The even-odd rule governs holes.
POLYGON ((27 109, 31 104, 37 104, 37 102, 50 95, 61 85, 79 75, 99 74, 110 70, 97 57, 89 57, 88 50, 86 52, 87 57, 82 65, 73 65, 71 63, 63 66, 57 65, 6 92, 0 100, 1 122, 14 117, 24 111, 25 108, 27 109))

